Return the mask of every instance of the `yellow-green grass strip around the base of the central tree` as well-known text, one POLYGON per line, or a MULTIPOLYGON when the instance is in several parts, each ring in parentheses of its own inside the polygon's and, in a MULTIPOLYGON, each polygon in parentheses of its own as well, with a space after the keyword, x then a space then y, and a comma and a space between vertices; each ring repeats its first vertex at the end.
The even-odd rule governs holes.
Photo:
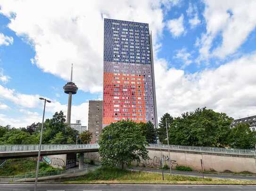
POLYGON ((102 167, 84 176, 59 180, 71 183, 167 183, 167 184, 256 184, 256 181, 233 181, 214 178, 179 176, 165 174, 165 180, 159 173, 134 172, 120 168, 102 167))

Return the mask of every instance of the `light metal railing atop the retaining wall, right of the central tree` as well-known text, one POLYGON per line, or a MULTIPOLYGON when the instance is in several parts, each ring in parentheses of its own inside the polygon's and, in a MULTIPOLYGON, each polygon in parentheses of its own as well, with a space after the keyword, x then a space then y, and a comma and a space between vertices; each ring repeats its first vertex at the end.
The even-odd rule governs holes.
MULTIPOLYGON (((168 149, 168 145, 149 144, 149 146, 146 146, 146 148, 168 149)), ((182 145, 169 145, 169 149, 170 150, 182 150, 182 151, 198 151, 198 152, 203 152, 203 153, 244 154, 244 155, 256 156, 256 152, 253 149, 232 149, 232 148, 182 146, 182 145)))

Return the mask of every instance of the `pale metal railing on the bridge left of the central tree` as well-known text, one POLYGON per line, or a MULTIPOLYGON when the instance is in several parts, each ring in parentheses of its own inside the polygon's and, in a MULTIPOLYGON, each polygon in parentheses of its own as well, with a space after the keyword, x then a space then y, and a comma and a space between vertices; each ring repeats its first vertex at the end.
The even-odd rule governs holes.
MULTIPOLYGON (((41 151, 50 150, 75 150, 99 148, 98 144, 86 145, 41 145, 41 151)), ((22 151, 38 151, 39 145, 0 145, 0 153, 22 152, 22 151)))

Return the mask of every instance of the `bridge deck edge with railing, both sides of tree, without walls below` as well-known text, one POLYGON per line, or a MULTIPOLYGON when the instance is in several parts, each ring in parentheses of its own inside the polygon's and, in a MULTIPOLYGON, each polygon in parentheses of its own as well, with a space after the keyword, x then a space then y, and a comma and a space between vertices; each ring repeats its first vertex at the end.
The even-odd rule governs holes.
MULTIPOLYGON (((199 146, 182 146, 182 145, 161 145, 149 144, 146 146, 148 150, 166 151, 168 148, 171 152, 178 153, 205 153, 205 154, 218 154, 225 156, 247 156, 250 158, 256 157, 255 150, 248 149, 226 149, 216 147, 199 147, 199 146)), ((11 158, 25 158, 35 157, 38 155, 39 145, 0 145, 0 159, 11 158)), ((86 145, 41 145, 41 155, 57 155, 69 153, 91 153, 98 152, 98 144, 86 145)))

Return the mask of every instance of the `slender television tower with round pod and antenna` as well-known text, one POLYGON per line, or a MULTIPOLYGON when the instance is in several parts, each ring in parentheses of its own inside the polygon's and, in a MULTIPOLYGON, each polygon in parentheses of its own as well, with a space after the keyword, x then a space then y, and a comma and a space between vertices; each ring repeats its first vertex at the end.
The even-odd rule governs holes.
POLYGON ((66 122, 69 125, 70 125, 70 118, 71 118, 72 94, 76 94, 76 92, 78 90, 78 87, 72 82, 72 75, 73 75, 73 64, 71 66, 70 82, 66 83, 66 85, 63 86, 64 92, 68 94, 66 122))

